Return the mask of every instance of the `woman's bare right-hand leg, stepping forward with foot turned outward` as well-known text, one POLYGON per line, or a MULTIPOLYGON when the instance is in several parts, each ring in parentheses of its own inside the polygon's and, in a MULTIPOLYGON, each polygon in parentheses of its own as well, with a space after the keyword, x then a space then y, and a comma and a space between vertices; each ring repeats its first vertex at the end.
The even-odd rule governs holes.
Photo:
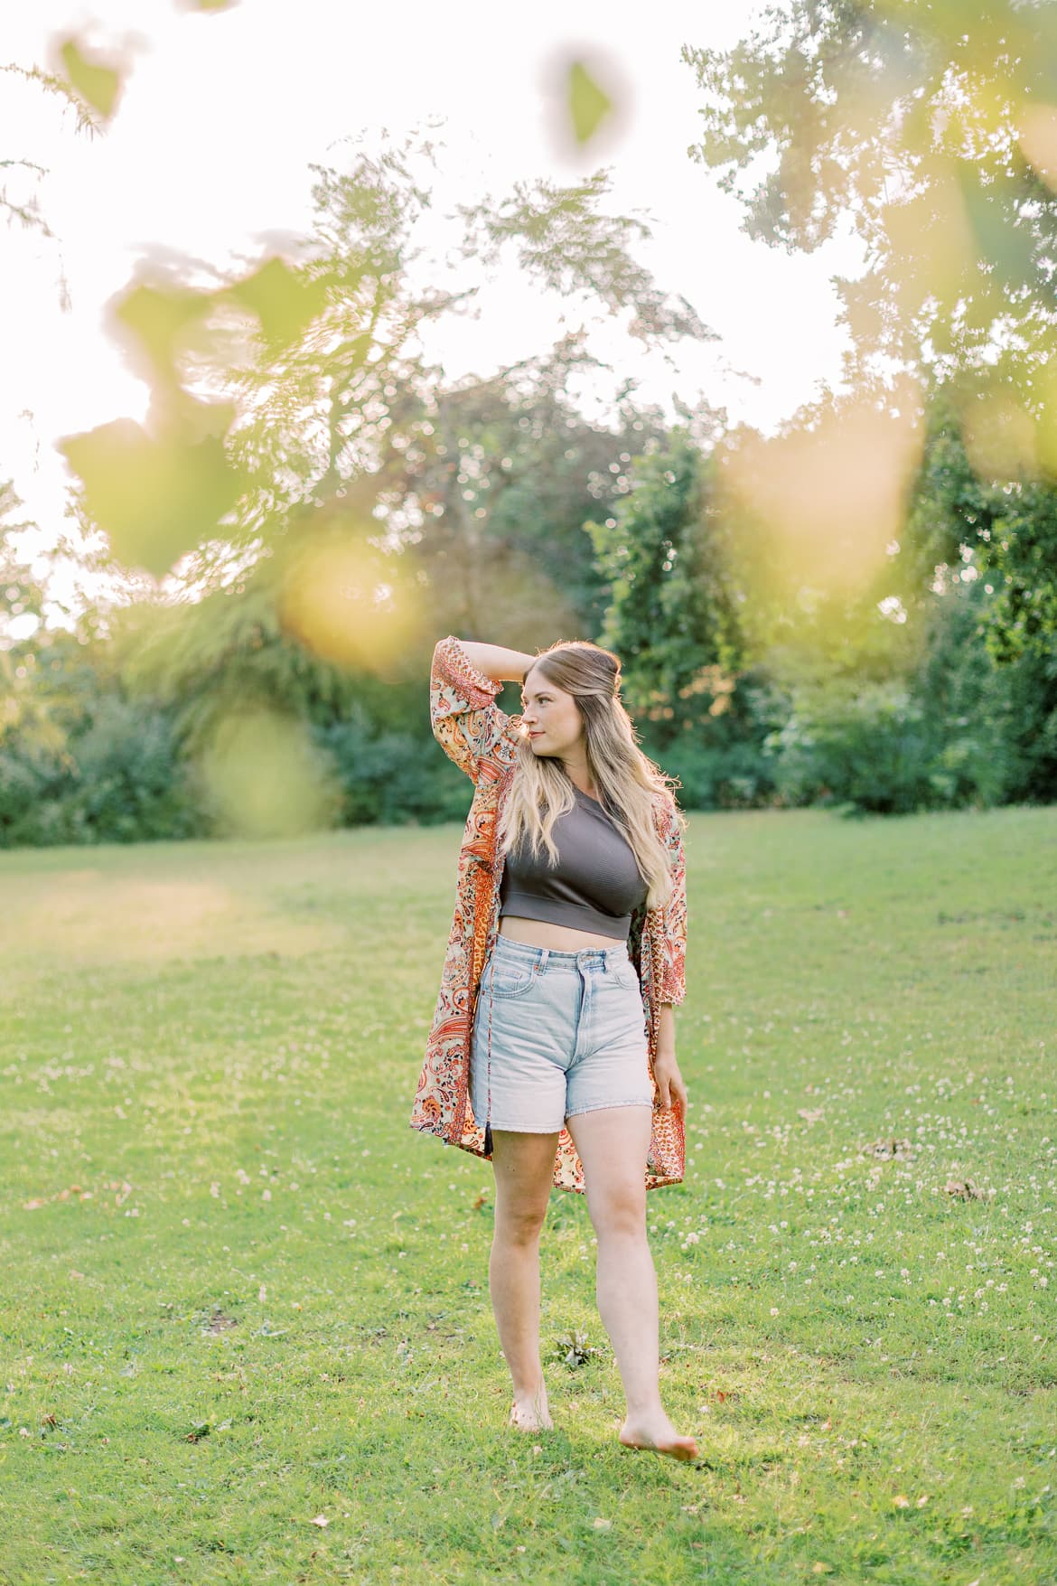
POLYGON ((602 1107, 567 1121, 583 1163, 588 1212, 597 1235, 597 1307, 628 1399, 620 1440, 674 1459, 696 1459, 661 1405, 658 1280, 647 1240, 645 1167, 650 1107, 602 1107))

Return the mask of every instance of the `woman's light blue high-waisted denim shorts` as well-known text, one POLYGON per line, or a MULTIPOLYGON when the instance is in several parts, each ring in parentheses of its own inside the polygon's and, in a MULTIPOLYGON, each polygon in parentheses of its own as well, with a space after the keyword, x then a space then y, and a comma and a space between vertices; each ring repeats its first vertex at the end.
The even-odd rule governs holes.
POLYGON ((572 953, 498 936, 474 1013, 471 1099, 482 1128, 520 1134, 556 1134, 599 1107, 653 1107, 628 942, 572 953))

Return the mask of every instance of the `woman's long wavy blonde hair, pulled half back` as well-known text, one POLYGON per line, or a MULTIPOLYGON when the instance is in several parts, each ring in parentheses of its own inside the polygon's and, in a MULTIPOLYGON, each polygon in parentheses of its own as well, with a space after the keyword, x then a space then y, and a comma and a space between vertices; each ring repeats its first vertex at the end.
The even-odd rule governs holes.
MULTIPOLYGON (((537 652, 529 672, 545 677, 575 698, 591 780, 602 796, 604 810, 635 855, 648 888, 647 907, 656 909, 672 895, 672 872, 653 810, 661 799, 681 826, 686 825, 686 817, 672 793, 672 787, 680 785, 678 779, 666 776, 639 749, 635 725, 620 698, 620 658, 590 639, 559 639, 537 652)), ((528 736, 521 736, 498 829, 501 852, 509 853, 525 841, 534 858, 542 845, 550 863, 556 864, 558 847, 551 831, 558 817, 574 804, 574 782, 561 760, 536 755, 528 736)))

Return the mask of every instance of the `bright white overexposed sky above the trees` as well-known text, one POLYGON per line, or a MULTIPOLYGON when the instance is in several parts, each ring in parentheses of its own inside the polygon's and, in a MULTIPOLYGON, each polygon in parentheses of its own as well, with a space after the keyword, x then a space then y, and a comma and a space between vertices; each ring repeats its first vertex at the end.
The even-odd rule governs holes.
MULTIPOLYGON (((3 60, 54 65, 55 40, 73 33, 86 52, 120 52, 128 63, 117 113, 97 138, 76 135, 57 98, 0 78, 2 152, 48 167, 36 192, 55 233, 49 241, 13 225, 3 235, 0 479, 14 481, 41 525, 35 544, 52 544, 62 527, 68 474, 55 441, 144 416, 146 387, 105 328, 105 305, 136 262, 252 263, 277 236, 309 230, 309 162, 341 167, 339 140, 379 127, 399 138, 429 117, 442 122, 452 197, 472 201, 482 186, 502 193, 534 176, 570 182, 610 165, 613 205, 648 213, 654 236, 639 257, 721 339, 677 347, 672 370, 604 331, 593 346, 615 373, 599 400, 635 376, 643 398, 704 396, 734 422, 773 430, 819 382, 838 381, 830 276, 856 274, 859 254, 846 239, 811 257, 751 243, 737 201, 686 154, 699 90, 681 44, 727 48, 759 10, 750 0, 669 0, 645 14, 621 0, 404 0, 371 11, 242 0, 212 14, 176 0, 10 8, 3 60), (551 86, 555 63, 574 54, 596 63, 626 108, 604 140, 570 155, 558 143, 551 86)), ((27 189, 16 176, 8 190, 27 189)), ((452 377, 488 374, 545 351, 563 312, 561 300, 504 278, 475 319, 455 320, 428 351, 452 377)))

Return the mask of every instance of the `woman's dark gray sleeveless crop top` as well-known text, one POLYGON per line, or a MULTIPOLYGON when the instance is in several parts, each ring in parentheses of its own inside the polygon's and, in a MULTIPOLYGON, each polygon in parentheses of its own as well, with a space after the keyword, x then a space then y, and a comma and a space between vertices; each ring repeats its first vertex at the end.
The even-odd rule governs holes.
POLYGON ((647 883, 631 844, 599 801, 578 787, 572 793, 574 807, 558 817, 551 833, 558 864, 551 868, 547 849, 532 858, 531 847, 513 847, 499 883, 499 914, 626 940, 647 883))

